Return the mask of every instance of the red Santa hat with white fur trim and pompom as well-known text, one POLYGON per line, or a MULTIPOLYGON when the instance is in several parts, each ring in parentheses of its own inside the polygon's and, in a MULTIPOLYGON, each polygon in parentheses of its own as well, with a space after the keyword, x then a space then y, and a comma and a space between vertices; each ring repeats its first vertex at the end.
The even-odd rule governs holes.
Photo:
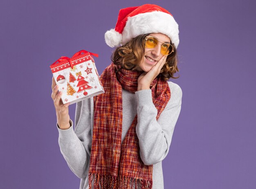
POLYGON ((116 27, 105 33, 105 41, 114 47, 146 33, 163 33, 170 37, 176 48, 180 42, 178 24, 173 15, 155 4, 120 9, 116 27))

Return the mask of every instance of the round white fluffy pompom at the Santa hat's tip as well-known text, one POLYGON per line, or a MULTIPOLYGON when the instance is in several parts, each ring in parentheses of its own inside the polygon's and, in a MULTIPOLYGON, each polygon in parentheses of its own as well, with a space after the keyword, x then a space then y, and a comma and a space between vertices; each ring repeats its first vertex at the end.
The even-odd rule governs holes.
POLYGON ((105 33, 105 41, 110 47, 118 46, 122 42, 122 35, 115 31, 115 29, 110 29, 105 33))

